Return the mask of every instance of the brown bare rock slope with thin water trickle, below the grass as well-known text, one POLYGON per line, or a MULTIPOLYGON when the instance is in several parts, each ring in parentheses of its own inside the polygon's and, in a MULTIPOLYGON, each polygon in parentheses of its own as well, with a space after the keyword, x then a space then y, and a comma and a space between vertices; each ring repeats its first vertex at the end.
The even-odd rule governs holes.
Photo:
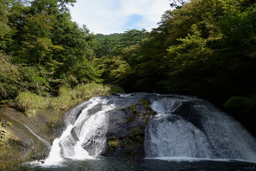
MULTIPOLYGON (((57 134, 49 129, 47 113, 39 113, 36 118, 29 119, 11 106, 0 105, 0 118, 6 126, 3 128, 6 133, 4 142, 0 145, 0 160, 31 159, 32 156, 39 156, 40 153, 49 153, 51 142, 57 134), (13 127, 6 122, 11 122, 13 127)), ((56 129, 52 130, 56 131, 56 129)), ((62 130, 57 132, 62 133, 62 130)))

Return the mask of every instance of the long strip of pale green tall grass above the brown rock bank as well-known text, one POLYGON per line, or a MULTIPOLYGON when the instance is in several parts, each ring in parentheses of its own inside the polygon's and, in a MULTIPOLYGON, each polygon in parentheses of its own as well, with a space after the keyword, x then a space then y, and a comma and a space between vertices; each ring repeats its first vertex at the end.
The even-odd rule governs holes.
POLYGON ((79 102, 89 100, 94 95, 107 95, 109 86, 89 83, 82 84, 73 89, 63 86, 59 89, 58 97, 41 97, 29 91, 20 92, 15 99, 16 105, 28 117, 35 116, 36 111, 52 108, 58 112, 65 112, 79 102))

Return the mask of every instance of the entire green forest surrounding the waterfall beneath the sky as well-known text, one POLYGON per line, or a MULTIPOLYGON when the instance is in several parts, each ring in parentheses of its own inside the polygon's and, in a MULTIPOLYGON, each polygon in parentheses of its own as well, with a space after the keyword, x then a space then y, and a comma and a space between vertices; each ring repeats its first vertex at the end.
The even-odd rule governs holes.
POLYGON ((0 102, 63 86, 195 95, 256 135, 256 3, 175 3, 157 28, 94 34, 71 20, 75 0, 0 0, 0 102))

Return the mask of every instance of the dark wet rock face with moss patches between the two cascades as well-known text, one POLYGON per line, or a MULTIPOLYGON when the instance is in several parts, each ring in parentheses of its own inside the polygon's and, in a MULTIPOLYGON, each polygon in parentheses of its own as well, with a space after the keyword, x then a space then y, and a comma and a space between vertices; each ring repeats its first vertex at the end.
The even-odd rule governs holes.
MULTIPOLYGON (((134 104, 137 112, 132 111, 130 105, 121 105, 118 108, 109 112, 109 126, 106 134, 107 140, 109 137, 118 137, 118 147, 115 151, 111 152, 109 148, 106 148, 102 154, 107 157, 132 157, 132 158, 144 158, 144 128, 147 124, 152 111, 147 115, 145 107, 137 102, 134 104), (121 110, 120 110, 121 109, 121 110), (132 116, 133 115, 133 116, 132 116), (129 119, 128 119, 129 118, 129 119), (144 122, 145 119, 145 122, 144 122), (134 133, 135 131, 135 133, 134 133), (136 131, 138 131, 136 133, 136 131), (125 138, 128 138, 126 142, 125 138), (141 141, 136 141, 136 138, 141 141), (129 153, 131 153, 129 155, 129 153)), ((108 147, 108 146, 107 146, 108 147)))

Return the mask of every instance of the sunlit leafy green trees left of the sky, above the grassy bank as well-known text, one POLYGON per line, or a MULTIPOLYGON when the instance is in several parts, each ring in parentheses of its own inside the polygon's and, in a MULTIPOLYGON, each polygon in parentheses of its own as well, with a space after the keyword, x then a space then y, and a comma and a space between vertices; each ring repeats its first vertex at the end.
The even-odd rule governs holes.
POLYGON ((65 83, 100 82, 92 64, 97 42, 71 21, 74 0, 0 0, 1 99, 19 91, 45 95, 65 83))

